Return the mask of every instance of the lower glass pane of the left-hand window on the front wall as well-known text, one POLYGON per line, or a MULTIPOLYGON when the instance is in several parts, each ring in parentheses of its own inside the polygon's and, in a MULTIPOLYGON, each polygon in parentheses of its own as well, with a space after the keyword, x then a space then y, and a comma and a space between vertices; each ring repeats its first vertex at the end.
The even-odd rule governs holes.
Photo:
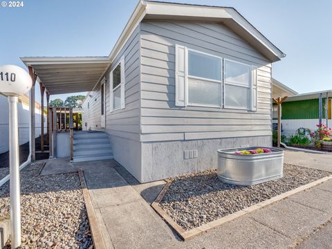
POLYGON ((220 106, 221 84, 188 78, 188 102, 220 106))

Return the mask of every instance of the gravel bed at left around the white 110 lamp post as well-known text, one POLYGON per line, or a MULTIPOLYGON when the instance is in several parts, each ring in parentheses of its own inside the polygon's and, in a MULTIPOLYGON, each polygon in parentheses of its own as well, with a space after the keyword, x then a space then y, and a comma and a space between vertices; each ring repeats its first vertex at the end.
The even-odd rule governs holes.
MULTIPOLYGON (((37 163, 21 171, 21 248, 93 248, 77 173, 38 172, 37 163)), ((9 205, 6 183, 0 187, 0 216, 10 215, 9 205)))

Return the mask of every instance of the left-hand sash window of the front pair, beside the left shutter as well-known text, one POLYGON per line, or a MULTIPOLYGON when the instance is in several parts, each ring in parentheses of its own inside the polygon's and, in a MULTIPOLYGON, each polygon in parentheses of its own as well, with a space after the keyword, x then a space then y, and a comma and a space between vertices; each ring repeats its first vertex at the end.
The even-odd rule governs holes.
POLYGON ((222 59, 188 50, 187 104, 221 107, 222 59))

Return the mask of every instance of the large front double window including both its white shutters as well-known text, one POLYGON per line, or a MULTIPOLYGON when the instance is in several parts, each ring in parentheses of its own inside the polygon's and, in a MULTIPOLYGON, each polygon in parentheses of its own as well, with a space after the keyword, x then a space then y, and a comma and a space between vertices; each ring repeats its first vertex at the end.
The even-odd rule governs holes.
POLYGON ((257 68, 176 45, 176 106, 257 109, 257 68))

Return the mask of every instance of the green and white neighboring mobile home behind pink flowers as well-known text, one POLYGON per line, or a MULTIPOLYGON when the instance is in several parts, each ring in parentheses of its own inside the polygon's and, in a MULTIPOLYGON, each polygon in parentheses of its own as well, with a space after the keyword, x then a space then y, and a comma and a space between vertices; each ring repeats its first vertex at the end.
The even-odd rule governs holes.
MULTIPOLYGON (((315 131, 317 124, 332 127, 331 98, 331 90, 302 93, 287 98, 282 103, 283 134, 289 136, 302 127, 315 131)), ((273 122, 277 122, 275 109, 273 114, 273 122)))

